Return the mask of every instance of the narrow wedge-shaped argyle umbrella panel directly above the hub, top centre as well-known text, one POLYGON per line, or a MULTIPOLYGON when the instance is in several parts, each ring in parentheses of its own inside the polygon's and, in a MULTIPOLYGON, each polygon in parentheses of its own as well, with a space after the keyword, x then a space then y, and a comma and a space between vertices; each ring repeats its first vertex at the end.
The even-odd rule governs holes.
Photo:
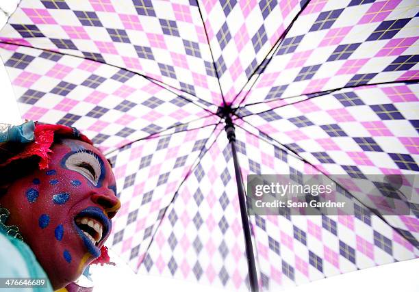
POLYGON ((242 90, 304 3, 199 1, 226 103, 231 103, 242 90))

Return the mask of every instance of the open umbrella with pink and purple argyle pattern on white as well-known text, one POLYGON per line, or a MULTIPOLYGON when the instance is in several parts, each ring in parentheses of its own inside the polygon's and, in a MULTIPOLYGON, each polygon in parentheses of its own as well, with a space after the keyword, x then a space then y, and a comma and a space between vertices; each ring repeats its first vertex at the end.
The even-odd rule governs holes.
POLYGON ((23 118, 77 127, 113 162, 109 242, 134 270, 278 291, 419 256, 418 198, 392 216, 358 200, 368 174, 419 172, 418 15, 414 0, 23 0, 0 57, 23 118), (355 215, 243 217, 248 174, 346 174, 355 215))

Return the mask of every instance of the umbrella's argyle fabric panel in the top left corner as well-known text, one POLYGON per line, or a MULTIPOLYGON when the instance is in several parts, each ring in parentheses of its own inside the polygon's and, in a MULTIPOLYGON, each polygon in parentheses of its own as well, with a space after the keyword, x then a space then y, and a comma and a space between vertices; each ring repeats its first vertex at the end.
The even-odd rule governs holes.
POLYGON ((188 93, 223 103, 216 77, 205 70, 214 66, 199 9, 188 1, 24 0, 0 40, 20 44, 22 38, 29 47, 127 68, 179 90, 181 83, 192 85, 188 93))

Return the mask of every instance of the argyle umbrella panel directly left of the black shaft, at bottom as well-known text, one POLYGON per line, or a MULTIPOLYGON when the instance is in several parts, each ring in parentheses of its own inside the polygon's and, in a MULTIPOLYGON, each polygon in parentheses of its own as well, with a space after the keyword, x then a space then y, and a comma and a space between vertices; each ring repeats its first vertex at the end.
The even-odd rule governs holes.
POLYGON ((157 229, 139 273, 246 290, 247 266, 227 137, 208 146, 157 229))

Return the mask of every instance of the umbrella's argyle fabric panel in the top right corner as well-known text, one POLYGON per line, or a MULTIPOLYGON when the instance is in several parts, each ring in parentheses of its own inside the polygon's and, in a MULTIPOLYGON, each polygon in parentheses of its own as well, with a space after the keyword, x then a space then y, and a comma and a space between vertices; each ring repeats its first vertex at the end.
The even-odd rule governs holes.
POLYGON ((409 31, 419 10, 405 13, 409 5, 409 0, 349 5, 309 1, 279 42, 264 75, 251 80, 253 88, 242 92, 235 103, 415 79, 418 37, 409 31), (272 94, 273 88, 281 91, 272 94))

